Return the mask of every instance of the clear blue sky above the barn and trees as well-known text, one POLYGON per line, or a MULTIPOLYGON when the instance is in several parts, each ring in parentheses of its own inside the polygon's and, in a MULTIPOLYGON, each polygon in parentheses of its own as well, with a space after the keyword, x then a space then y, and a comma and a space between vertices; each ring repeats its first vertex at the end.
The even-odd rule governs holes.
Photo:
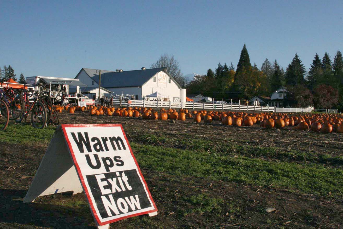
POLYGON ((17 76, 74 78, 82 67, 135 70, 164 53, 182 73, 218 62, 286 68, 298 53, 343 51, 343 1, 2 1, 0 66, 17 76))

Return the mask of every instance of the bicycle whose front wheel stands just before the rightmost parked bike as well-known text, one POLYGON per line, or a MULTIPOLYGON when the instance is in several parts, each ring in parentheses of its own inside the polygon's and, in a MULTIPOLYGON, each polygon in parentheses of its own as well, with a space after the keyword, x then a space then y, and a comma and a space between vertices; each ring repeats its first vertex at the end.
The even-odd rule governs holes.
POLYGON ((20 119, 15 120, 18 123, 21 123, 23 119, 29 116, 29 112, 31 111, 31 123, 32 126, 38 129, 43 129, 46 126, 46 108, 42 102, 39 101, 38 92, 35 91, 33 96, 35 97, 32 102, 29 102, 27 92, 24 92, 25 106, 24 106, 24 113, 21 115, 20 119), (28 108, 26 108, 28 106, 28 108))

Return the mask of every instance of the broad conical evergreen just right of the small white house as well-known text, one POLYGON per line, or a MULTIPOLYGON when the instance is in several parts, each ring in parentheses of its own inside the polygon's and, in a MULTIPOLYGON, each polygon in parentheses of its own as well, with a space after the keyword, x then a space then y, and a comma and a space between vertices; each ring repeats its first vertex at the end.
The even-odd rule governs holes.
POLYGON ((301 64, 298 54, 296 53, 291 64, 286 69, 285 80, 288 85, 300 85, 305 83, 305 67, 301 64))

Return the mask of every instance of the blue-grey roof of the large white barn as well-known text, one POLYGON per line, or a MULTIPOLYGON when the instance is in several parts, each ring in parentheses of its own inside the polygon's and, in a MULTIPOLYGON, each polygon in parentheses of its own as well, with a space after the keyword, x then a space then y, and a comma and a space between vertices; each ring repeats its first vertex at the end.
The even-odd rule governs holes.
MULTIPOLYGON (((87 75, 99 84, 99 70, 91 68, 82 68, 87 75)), ((82 71, 81 69, 81 71, 82 71)), ((80 72, 81 72, 80 71, 80 72)), ((150 68, 145 70, 132 70, 132 71, 107 71, 101 70, 101 85, 104 88, 125 88, 125 87, 140 87, 146 81, 151 79, 157 72, 164 71, 166 68, 150 68)), ((167 72, 166 72, 167 73, 167 72)), ((79 74, 78 74, 79 75, 79 74)), ((167 75, 180 87, 180 85, 171 77, 167 75)), ((76 76, 75 78, 77 78, 76 76)))

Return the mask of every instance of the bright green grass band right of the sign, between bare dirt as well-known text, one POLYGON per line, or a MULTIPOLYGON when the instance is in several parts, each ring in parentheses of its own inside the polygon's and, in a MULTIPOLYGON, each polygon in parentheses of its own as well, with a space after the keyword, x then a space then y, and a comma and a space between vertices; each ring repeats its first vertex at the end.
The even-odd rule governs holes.
POLYGON ((180 176, 253 185, 283 187, 302 193, 335 195, 343 193, 343 171, 319 164, 273 162, 255 158, 215 155, 132 142, 138 163, 143 168, 180 176))

